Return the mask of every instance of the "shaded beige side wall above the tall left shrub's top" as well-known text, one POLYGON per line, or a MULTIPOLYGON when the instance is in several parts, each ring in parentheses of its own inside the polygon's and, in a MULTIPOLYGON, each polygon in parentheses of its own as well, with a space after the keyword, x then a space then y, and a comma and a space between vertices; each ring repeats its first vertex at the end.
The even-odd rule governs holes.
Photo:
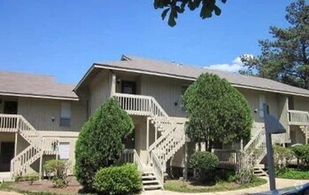
POLYGON ((102 71, 89 84, 89 113, 92 115, 96 109, 111 97, 112 74, 102 71))

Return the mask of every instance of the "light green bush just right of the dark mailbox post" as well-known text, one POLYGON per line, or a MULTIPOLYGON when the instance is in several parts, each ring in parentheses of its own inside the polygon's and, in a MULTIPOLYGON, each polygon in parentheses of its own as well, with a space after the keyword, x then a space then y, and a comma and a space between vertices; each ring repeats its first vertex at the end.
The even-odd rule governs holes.
POLYGON ((278 144, 274 145, 274 167, 276 171, 286 168, 289 161, 294 158, 295 156, 290 148, 285 148, 278 144))

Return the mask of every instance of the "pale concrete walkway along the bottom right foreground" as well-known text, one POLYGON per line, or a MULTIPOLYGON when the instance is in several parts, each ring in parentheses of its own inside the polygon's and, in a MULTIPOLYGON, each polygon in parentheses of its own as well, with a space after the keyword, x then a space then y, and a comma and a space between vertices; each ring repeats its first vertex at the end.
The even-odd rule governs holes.
MULTIPOLYGON (((263 177, 268 180, 268 177, 263 177)), ((297 185, 309 183, 309 180, 295 180, 295 179, 275 179, 277 190, 288 188, 288 187, 296 187, 297 185)), ((269 191, 269 183, 260 185, 254 188, 248 188, 237 191, 220 191, 220 192, 205 192, 205 193, 182 193, 182 192, 174 192, 174 191, 145 191, 143 195, 185 195, 185 194, 195 194, 195 195, 241 195, 241 194, 251 194, 257 192, 269 191)))

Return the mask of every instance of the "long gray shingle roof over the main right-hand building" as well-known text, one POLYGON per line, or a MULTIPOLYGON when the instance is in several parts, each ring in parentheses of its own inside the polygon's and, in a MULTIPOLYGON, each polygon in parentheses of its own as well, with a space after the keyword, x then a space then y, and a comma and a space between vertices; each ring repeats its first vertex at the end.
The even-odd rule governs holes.
POLYGON ((121 68, 130 71, 140 71, 145 74, 163 74, 166 76, 179 76, 184 79, 195 80, 202 73, 217 74, 225 78, 235 86, 243 88, 252 88, 257 90, 270 90, 285 94, 295 94, 308 96, 309 90, 293 87, 282 82, 259 78, 255 76, 244 76, 241 74, 232 74, 224 71, 211 70, 197 66, 177 65, 174 63, 159 61, 150 58, 140 58, 133 56, 122 56, 120 61, 109 63, 95 63, 96 66, 121 68))

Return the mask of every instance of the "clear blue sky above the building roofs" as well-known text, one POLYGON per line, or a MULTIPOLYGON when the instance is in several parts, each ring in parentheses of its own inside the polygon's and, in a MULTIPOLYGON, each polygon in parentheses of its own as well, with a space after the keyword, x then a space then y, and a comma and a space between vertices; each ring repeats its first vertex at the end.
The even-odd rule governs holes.
POLYGON ((291 2, 228 0, 220 17, 188 10, 169 27, 152 1, 0 0, 0 70, 74 83, 122 54, 236 70, 237 57, 258 55, 258 40, 271 38, 269 26, 288 26, 291 2))

